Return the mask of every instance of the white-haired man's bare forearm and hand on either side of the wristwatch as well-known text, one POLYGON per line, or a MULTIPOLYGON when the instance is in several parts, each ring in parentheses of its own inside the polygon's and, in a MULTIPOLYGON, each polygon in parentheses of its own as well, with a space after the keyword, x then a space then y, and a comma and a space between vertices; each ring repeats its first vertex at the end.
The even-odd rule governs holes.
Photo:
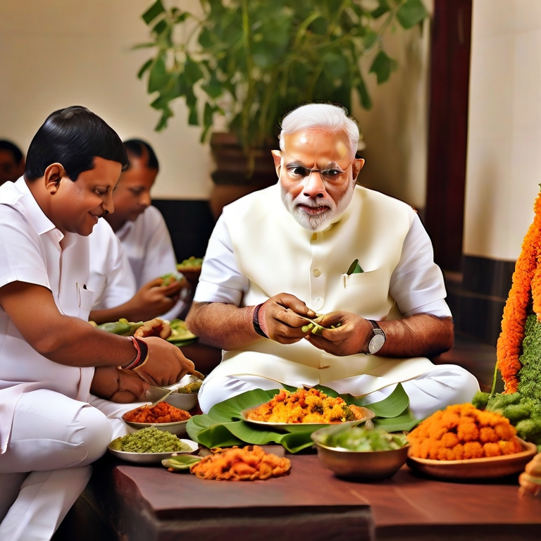
MULTIPOLYGON (((350 312, 332 312, 317 320, 330 327, 340 322, 340 327, 323 331, 323 335, 308 335, 314 346, 337 356, 361 352, 372 326, 361 316, 350 312)), ((452 318, 437 318, 421 313, 393 321, 378 321, 387 340, 378 355, 387 357, 436 356, 453 345, 452 318)))

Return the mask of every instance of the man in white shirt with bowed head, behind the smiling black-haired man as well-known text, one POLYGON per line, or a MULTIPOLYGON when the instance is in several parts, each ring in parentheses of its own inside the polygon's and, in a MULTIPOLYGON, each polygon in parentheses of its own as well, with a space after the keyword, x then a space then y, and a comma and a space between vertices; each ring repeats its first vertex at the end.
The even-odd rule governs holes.
MULTIPOLYGON (((151 205, 150 190, 158 175, 158 158, 154 149, 140 139, 128 139, 124 144, 130 165, 120 175, 113 194, 115 212, 106 220, 128 256, 137 290, 156 288, 161 285, 161 276, 176 273, 177 264, 166 222, 151 205)), ((181 291, 185 285, 183 280, 163 286, 161 318, 173 319, 185 309, 188 291, 181 291)))

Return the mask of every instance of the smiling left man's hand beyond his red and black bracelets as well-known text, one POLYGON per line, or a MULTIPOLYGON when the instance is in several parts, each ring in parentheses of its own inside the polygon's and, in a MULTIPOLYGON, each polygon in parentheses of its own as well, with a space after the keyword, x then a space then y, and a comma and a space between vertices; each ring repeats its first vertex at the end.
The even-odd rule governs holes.
POLYGON ((150 385, 173 385, 194 371, 194 363, 173 344, 158 337, 144 338, 144 342, 149 347, 149 360, 135 372, 150 385))

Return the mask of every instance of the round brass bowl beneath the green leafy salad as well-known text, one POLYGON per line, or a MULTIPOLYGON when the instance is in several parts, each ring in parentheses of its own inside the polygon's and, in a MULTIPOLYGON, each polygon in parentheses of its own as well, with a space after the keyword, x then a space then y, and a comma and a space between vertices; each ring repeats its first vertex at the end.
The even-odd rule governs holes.
POLYGON ((316 442, 318 458, 337 477, 354 480, 386 479, 397 473, 408 456, 409 445, 391 451, 350 451, 316 442))

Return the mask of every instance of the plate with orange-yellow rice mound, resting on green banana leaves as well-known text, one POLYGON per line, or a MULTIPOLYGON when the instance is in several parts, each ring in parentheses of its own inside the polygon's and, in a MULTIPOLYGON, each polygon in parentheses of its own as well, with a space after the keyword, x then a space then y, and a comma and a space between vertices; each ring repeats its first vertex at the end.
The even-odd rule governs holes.
POLYGON ((280 390, 268 402, 244 409, 243 421, 260 427, 304 432, 334 424, 356 424, 374 417, 373 411, 329 397, 318 389, 280 390))

